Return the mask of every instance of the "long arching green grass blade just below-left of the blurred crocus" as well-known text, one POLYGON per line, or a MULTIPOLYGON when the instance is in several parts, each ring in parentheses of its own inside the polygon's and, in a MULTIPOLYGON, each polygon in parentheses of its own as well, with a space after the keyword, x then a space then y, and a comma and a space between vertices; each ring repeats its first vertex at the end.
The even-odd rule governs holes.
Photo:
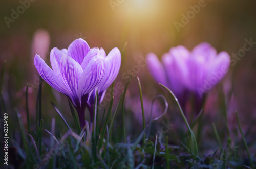
POLYGON ((177 103, 177 105, 178 105, 178 108, 179 108, 179 110, 180 110, 181 116, 182 116, 182 118, 183 118, 183 120, 184 120, 184 122, 185 122, 185 124, 186 124, 186 126, 187 126, 187 128, 188 128, 188 130, 190 131, 190 134, 191 134, 191 141, 192 141, 192 144, 193 144, 193 146, 194 146, 194 151, 193 151, 193 153, 195 153, 195 155, 198 155, 198 148, 197 148, 197 140, 196 140, 196 137, 195 137, 195 135, 194 135, 194 133, 193 133, 193 130, 190 128, 190 126, 189 126, 189 124, 188 124, 188 122, 187 122, 187 119, 186 119, 186 117, 185 117, 185 115, 184 115, 184 113, 183 113, 183 111, 182 111, 182 109, 181 109, 181 106, 180 106, 180 103, 179 103, 178 99, 176 98, 176 96, 174 95, 174 93, 173 93, 170 89, 168 89, 168 87, 164 86, 164 85, 161 84, 161 83, 159 83, 159 84, 160 84, 160 86, 162 86, 165 90, 167 90, 167 91, 173 96, 173 98, 175 99, 175 101, 176 101, 176 103, 177 103))

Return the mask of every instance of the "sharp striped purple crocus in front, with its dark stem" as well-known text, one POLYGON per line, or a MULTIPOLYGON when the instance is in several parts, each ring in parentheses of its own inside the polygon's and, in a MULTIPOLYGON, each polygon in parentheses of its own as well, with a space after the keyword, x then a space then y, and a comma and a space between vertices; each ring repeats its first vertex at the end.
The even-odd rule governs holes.
POLYGON ((105 73, 104 58, 90 49, 83 39, 74 40, 68 49, 54 47, 50 53, 52 69, 39 56, 35 55, 34 64, 50 86, 68 96, 76 108, 80 127, 85 124, 84 111, 89 93, 101 82, 105 73))

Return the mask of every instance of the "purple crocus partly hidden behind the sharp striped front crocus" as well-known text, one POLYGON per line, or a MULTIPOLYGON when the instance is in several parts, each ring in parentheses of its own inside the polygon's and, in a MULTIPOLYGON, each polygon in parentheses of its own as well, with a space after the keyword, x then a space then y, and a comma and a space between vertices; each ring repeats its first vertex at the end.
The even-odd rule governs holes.
POLYGON ((91 115, 91 120, 94 114, 95 108, 95 98, 98 91, 98 99, 99 103, 101 103, 104 99, 104 95, 106 93, 106 89, 114 82, 116 79, 120 66, 121 66, 121 53, 117 47, 112 49, 108 55, 106 55, 103 48, 97 51, 101 56, 104 57, 105 61, 105 76, 103 80, 99 83, 99 85, 91 92, 90 99, 88 101, 88 110, 91 115))

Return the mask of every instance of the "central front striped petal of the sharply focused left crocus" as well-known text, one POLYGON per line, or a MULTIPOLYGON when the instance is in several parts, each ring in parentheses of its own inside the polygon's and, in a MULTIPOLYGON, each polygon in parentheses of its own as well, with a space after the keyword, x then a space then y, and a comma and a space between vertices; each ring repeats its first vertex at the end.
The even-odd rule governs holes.
POLYGON ((61 75, 64 83, 69 88, 75 104, 80 104, 77 99, 78 84, 82 75, 82 68, 73 58, 63 56, 60 60, 61 75))

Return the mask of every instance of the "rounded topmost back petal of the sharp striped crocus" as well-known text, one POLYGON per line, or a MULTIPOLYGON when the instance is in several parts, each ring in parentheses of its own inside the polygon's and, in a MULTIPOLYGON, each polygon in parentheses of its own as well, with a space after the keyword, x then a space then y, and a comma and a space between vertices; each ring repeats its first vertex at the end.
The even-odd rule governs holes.
POLYGON ((68 48, 68 56, 72 57, 79 64, 82 63, 83 58, 90 51, 90 47, 83 39, 74 40, 68 48))

